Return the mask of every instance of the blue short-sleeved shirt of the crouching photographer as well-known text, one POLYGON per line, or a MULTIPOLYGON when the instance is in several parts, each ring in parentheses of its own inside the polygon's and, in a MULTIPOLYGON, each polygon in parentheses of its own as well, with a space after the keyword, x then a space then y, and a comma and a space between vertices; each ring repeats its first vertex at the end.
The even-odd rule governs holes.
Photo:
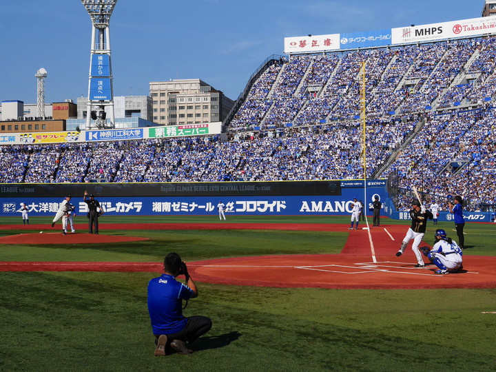
POLYGON ((170 335, 186 327, 182 300, 189 300, 192 295, 192 289, 172 275, 164 273, 148 282, 148 313, 155 335, 170 335))

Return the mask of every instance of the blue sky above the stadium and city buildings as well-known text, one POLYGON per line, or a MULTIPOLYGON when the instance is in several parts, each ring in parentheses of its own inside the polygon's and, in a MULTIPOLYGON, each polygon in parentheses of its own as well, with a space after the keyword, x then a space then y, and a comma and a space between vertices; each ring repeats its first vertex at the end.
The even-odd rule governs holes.
MULTIPOLYGON (((284 38, 362 32, 480 17, 484 0, 118 0, 110 21, 114 95, 149 81, 202 79, 236 99, 284 38), (187 16, 185 15, 187 14, 187 16)), ((80 0, 0 3, 0 101, 87 96, 91 21, 80 0)))

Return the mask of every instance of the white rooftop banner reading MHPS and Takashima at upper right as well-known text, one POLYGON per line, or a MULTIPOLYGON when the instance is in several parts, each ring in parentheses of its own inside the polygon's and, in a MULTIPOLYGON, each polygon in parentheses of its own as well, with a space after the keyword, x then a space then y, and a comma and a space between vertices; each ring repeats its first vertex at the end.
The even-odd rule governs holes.
POLYGON ((496 17, 481 17, 431 23, 428 25, 413 25, 403 28, 393 28, 392 43, 426 43, 455 37, 473 37, 482 34, 496 33, 496 17))

